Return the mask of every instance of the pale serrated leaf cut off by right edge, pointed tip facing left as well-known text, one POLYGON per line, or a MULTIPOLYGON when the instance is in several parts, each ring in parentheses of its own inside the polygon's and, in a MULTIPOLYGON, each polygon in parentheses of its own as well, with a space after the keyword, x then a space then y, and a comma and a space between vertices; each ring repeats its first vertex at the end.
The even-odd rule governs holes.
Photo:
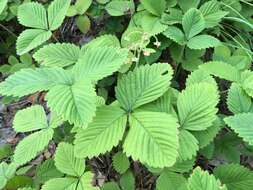
POLYGON ((239 137, 253 145, 253 113, 237 114, 225 118, 224 121, 239 137))

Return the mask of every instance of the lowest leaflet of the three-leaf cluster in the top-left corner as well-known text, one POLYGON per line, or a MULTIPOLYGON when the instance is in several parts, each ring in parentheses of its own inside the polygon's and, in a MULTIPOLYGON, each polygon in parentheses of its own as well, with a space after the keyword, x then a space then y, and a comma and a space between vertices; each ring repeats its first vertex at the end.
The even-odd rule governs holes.
POLYGON ((23 55, 40 46, 52 36, 52 32, 41 29, 27 29, 23 31, 16 43, 17 54, 23 55))

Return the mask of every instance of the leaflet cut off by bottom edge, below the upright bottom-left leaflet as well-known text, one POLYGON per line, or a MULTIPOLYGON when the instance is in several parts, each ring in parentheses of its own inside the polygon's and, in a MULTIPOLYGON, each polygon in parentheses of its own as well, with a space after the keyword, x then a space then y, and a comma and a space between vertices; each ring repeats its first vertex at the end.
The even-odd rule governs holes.
POLYGON ((47 181, 41 190, 75 190, 77 185, 76 178, 54 178, 47 181))

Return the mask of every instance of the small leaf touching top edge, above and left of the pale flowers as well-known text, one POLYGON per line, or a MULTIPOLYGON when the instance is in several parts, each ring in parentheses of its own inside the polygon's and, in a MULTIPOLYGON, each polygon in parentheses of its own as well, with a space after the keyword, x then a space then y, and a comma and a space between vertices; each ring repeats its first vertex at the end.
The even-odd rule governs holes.
POLYGON ((122 16, 127 13, 133 13, 134 9, 134 2, 128 0, 114 0, 105 6, 105 10, 111 16, 122 16))

